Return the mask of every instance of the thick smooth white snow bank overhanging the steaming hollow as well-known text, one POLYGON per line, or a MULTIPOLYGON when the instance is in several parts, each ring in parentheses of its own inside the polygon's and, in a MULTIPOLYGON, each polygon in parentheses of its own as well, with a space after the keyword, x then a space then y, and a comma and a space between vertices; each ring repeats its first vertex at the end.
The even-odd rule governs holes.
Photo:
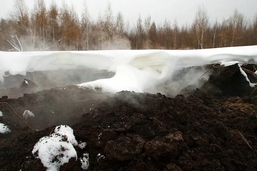
POLYGON ((175 70, 215 64, 217 62, 257 61, 257 46, 240 46, 201 50, 99 50, 0 52, 0 80, 33 71, 71 69, 85 66, 116 72, 113 78, 79 84, 116 93, 121 90, 150 92, 165 82, 175 70))

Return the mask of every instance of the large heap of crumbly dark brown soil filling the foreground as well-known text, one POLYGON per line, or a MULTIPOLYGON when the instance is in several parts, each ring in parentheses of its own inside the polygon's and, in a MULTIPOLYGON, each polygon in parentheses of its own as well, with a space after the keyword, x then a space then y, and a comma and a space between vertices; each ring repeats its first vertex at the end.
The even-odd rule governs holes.
MULTIPOLYGON (((123 91, 85 112, 72 128, 77 141, 88 143, 77 154, 89 153, 89 170, 256 170, 256 113, 256 105, 239 97, 123 91)), ((0 167, 45 170, 31 151, 51 129, 24 131, 3 143, 0 167)), ((73 160, 62 169, 80 166, 73 160)))

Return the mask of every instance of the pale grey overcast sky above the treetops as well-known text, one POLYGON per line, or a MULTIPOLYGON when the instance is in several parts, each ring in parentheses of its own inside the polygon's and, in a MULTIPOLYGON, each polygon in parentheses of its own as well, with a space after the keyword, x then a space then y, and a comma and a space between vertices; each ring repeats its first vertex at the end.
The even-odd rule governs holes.
MULTIPOLYGON (((45 0, 49 7, 52 0, 45 0)), ((13 9, 13 0, 0 0, 0 17, 6 17, 13 9)), ((25 0, 31 9, 34 0, 25 0)), ((62 0, 55 0, 61 6, 62 0)), ((204 5, 210 16, 210 20, 218 21, 227 19, 237 9, 243 13, 247 19, 253 19, 257 14, 257 0, 65 0, 68 5, 73 4, 79 16, 83 10, 83 3, 86 2, 89 12, 94 19, 97 19, 99 13, 104 13, 108 2, 111 3, 114 14, 121 11, 125 22, 130 25, 136 23, 138 15, 142 20, 149 14, 152 21, 160 24, 164 19, 173 23, 176 18, 179 25, 192 23, 198 5, 204 5)))

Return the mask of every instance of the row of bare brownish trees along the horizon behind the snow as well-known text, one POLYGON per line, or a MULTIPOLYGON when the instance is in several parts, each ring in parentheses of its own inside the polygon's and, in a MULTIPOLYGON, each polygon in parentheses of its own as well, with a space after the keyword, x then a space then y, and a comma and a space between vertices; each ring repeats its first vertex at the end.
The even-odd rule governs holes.
POLYGON ((136 24, 113 13, 108 3, 95 21, 84 4, 79 17, 63 1, 47 9, 44 0, 35 0, 29 11, 24 0, 15 0, 8 18, 0 21, 0 50, 107 50, 107 49, 203 49, 257 44, 257 13, 250 21, 237 10, 222 22, 211 22, 203 6, 196 9, 191 25, 178 26, 164 20, 156 25, 148 15, 139 15, 136 24))

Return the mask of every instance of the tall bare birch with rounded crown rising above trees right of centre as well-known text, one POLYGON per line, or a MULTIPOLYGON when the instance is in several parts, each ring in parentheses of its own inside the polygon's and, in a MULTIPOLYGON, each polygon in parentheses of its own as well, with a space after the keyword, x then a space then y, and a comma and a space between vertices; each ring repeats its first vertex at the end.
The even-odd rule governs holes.
POLYGON ((198 49, 199 45, 203 49, 204 33, 209 28, 209 16, 203 6, 198 6, 198 11, 194 19, 194 28, 198 40, 198 49))

